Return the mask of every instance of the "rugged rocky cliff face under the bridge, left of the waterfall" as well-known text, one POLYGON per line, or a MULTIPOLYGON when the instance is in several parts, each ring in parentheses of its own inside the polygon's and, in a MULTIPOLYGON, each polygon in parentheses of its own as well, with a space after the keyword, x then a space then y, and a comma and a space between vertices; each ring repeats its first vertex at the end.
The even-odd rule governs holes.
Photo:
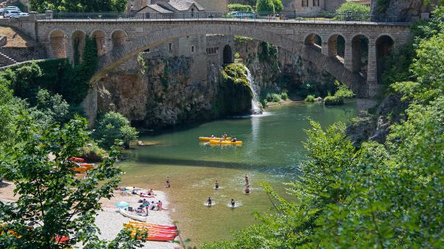
POLYGON ((207 80, 194 80, 193 63, 191 57, 144 59, 133 64, 133 69, 127 65, 114 71, 98 84, 99 111, 118 111, 136 126, 157 129, 250 110, 248 89, 233 97, 241 100, 239 104, 222 101, 234 103, 229 90, 242 90, 244 85, 227 80, 222 68, 214 64, 207 65, 207 80))

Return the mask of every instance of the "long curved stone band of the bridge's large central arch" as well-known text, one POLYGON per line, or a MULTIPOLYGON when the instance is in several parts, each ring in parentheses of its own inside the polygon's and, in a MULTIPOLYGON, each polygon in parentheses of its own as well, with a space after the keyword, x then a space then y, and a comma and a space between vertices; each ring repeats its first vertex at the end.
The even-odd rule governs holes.
MULTIPOLYGON (((112 50, 107 51, 105 55, 99 59, 99 68, 92 77, 91 82, 99 81, 106 73, 110 72, 126 60, 134 57, 138 53, 148 48, 153 48, 171 39, 186 37, 189 35, 205 35, 205 34, 224 34, 251 37, 262 42, 270 42, 284 50, 298 53, 303 59, 307 59, 317 66, 324 68, 333 77, 347 84, 357 95, 365 95, 365 80, 359 75, 352 73, 339 62, 332 62, 326 55, 320 53, 313 46, 306 46, 304 40, 299 37, 291 39, 287 35, 274 33, 265 28, 257 28, 255 23, 245 25, 232 25, 230 21, 224 21, 218 24, 198 23, 182 24, 179 23, 172 28, 163 28, 151 33, 142 33, 133 39, 128 40, 121 46, 113 46, 112 50), (361 94, 362 93, 362 94, 361 94)), ((318 35, 309 33, 310 35, 318 35)), ((320 35, 318 35, 321 37, 320 35)))

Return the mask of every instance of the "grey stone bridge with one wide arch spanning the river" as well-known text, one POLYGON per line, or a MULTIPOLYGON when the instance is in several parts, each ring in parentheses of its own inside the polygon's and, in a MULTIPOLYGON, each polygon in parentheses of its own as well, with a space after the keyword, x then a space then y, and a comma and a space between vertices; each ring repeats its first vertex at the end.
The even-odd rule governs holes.
POLYGON ((34 22, 34 27, 28 24, 29 33, 44 44, 47 55, 52 58, 75 60, 74 48, 83 49, 85 36, 96 39, 100 64, 92 82, 100 80, 130 57, 170 39, 205 34, 240 35, 271 42, 299 54, 347 84, 359 99, 367 100, 370 105, 378 95, 380 59, 388 55, 393 46, 400 46, 411 38, 409 23, 48 17, 34 22), (345 44, 341 56, 339 39, 345 44))

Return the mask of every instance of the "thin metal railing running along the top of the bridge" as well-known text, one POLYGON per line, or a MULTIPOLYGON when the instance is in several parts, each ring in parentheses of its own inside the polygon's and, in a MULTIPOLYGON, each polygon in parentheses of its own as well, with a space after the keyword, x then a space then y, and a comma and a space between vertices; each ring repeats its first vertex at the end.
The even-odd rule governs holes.
MULTIPOLYGON (((51 19, 46 17, 46 19, 51 19)), ((173 12, 173 13, 142 13, 142 12, 54 12, 52 19, 83 19, 83 20, 200 20, 227 19, 242 21, 300 21, 300 22, 383 22, 409 23, 411 17, 391 15, 354 15, 337 13, 272 13, 272 12, 173 12)))

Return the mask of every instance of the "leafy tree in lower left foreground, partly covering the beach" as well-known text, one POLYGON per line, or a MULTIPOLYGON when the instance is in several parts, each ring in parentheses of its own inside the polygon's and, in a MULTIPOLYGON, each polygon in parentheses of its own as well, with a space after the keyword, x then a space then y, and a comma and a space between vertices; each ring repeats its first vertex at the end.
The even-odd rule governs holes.
POLYGON ((24 113, 16 125, 15 142, 3 149, 0 169, 14 182, 19 199, 0 204, 1 248, 68 248, 76 243, 85 248, 141 245, 125 230, 110 243, 97 237, 94 217, 101 209, 99 200, 110 199, 121 170, 113 167, 119 152, 112 149, 110 157, 92 169, 88 178, 75 178, 69 158, 78 156, 88 139, 86 120, 40 130, 24 113), (49 154, 55 160, 50 160, 49 154), (59 243, 56 237, 62 236, 69 236, 68 243, 59 243))

